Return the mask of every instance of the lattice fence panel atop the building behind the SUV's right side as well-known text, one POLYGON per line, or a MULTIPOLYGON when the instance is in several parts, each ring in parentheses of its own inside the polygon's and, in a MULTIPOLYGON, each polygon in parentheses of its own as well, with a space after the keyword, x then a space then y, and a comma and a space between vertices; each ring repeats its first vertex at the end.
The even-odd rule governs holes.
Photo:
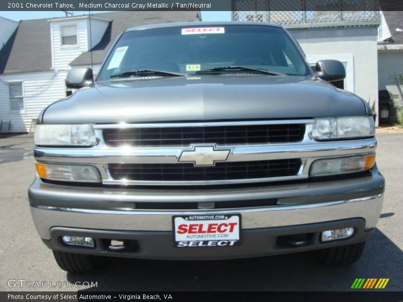
POLYGON ((377 0, 232 0, 234 21, 282 25, 379 21, 377 0))

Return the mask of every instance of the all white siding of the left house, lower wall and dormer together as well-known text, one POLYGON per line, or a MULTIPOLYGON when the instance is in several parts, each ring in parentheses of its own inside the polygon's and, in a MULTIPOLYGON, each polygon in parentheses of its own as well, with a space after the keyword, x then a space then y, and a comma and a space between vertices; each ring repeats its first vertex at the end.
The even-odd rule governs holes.
MULTIPOLYGON (((11 121, 10 132, 28 132, 32 119, 37 118, 46 106, 65 97, 64 80, 72 68, 69 63, 82 52, 88 51, 90 43, 92 46, 98 44, 108 24, 109 22, 106 20, 92 19, 92 41, 90 41, 88 18, 50 21, 49 34, 52 42, 53 70, 0 74, 0 120, 11 121), (77 26, 78 45, 62 46, 60 28, 69 25, 77 26), (7 82, 10 81, 23 82, 25 108, 20 112, 10 111, 9 88, 7 86, 7 82)), ((99 64, 94 65, 94 74, 99 71, 99 67, 99 64)))

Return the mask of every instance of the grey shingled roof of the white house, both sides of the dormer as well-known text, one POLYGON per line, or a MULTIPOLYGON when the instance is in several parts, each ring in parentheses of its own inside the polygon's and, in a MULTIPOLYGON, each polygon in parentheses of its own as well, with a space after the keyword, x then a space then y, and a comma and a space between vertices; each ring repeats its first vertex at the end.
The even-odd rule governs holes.
MULTIPOLYGON (((111 20, 101 41, 92 48, 94 64, 100 64, 114 39, 125 29, 153 23, 197 21, 198 12, 128 11, 94 14, 111 20)), ((91 64, 91 53, 84 52, 70 65, 91 64)), ((0 74, 50 70, 51 42, 48 19, 21 21, 18 29, 0 51, 0 74)))

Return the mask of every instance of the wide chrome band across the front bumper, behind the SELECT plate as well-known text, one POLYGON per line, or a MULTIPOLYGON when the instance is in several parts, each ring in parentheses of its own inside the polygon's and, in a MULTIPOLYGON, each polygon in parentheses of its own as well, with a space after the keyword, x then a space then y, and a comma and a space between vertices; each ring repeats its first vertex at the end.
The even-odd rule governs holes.
POLYGON ((362 217, 366 228, 374 228, 378 221, 382 194, 306 204, 225 210, 97 210, 49 207, 31 204, 31 213, 39 235, 50 239, 53 226, 99 230, 172 231, 172 216, 176 214, 240 213, 242 229, 271 228, 339 219, 362 217))

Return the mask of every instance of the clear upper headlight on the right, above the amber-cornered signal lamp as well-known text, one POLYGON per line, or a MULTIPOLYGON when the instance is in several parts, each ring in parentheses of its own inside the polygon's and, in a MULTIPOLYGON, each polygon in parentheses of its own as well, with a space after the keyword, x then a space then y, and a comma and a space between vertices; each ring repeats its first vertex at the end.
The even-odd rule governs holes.
POLYGON ((375 135, 372 116, 317 118, 312 129, 315 140, 362 138, 375 135))

